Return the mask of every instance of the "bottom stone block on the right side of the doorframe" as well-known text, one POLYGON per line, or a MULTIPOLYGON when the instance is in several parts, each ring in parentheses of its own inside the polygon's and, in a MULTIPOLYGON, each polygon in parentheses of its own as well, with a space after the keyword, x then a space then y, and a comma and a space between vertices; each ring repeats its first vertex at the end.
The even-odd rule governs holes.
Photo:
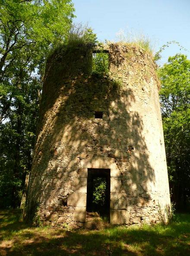
POLYGON ((110 223, 113 225, 128 224, 130 215, 127 210, 110 210, 110 223))

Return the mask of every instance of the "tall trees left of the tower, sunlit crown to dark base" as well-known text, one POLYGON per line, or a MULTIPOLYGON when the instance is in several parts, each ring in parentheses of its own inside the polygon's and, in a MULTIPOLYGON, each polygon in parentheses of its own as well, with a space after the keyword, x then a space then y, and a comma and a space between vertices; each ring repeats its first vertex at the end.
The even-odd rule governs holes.
POLYGON ((0 4, 0 207, 17 207, 32 164, 45 61, 66 40, 74 8, 71 0, 0 4))

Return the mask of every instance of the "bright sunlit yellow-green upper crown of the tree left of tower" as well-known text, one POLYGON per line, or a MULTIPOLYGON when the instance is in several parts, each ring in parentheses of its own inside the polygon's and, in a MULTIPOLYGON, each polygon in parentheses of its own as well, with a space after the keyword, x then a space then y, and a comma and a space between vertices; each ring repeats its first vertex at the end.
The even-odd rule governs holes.
POLYGON ((49 50, 63 42, 70 30, 74 9, 71 0, 0 0, 0 3, 2 121, 10 105, 6 96, 14 89, 9 79, 15 61, 25 58, 28 72, 42 75, 49 50))

